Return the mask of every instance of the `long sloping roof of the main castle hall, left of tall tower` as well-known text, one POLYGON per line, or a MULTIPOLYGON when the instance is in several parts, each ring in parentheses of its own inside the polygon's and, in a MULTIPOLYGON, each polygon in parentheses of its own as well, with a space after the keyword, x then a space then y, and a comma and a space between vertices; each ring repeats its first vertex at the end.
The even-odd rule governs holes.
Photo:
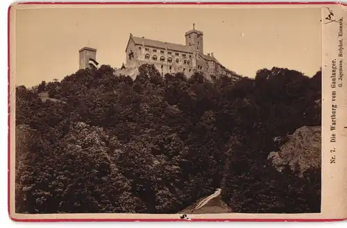
POLYGON ((144 46, 151 46, 158 49, 169 49, 171 51, 180 51, 180 52, 186 52, 186 53, 192 53, 192 51, 189 49, 189 46, 185 46, 183 44, 174 44, 169 42, 162 42, 160 40, 150 40, 146 39, 144 37, 134 37, 131 36, 130 38, 133 39, 135 44, 138 45, 144 45, 144 46))

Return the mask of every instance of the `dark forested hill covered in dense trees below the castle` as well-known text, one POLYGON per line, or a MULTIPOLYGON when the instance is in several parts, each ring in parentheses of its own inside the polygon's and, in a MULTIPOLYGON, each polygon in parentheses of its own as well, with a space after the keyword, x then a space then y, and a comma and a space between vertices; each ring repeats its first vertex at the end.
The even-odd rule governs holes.
POLYGON ((318 212, 321 170, 267 157, 276 137, 321 125, 320 99, 321 71, 280 68, 232 84, 101 66, 19 86, 17 213, 177 213, 216 188, 233 212, 318 212))

